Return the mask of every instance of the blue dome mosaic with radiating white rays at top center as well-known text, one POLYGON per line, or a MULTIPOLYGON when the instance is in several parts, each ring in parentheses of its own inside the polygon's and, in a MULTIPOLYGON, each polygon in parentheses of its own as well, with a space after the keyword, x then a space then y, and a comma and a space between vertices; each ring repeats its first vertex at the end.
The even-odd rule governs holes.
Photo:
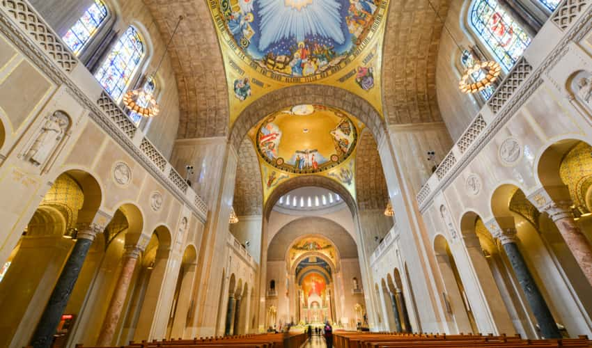
POLYGON ((251 68, 279 81, 313 81, 361 53, 382 21, 386 2, 218 0, 216 22, 251 68))

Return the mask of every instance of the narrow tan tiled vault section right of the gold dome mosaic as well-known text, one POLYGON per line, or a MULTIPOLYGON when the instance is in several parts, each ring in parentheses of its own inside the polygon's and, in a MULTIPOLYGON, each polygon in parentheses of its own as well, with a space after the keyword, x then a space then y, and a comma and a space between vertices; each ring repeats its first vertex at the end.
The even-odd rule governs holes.
POLYGON ((360 210, 384 209, 389 201, 380 156, 374 137, 362 132, 356 154, 356 196, 360 210))

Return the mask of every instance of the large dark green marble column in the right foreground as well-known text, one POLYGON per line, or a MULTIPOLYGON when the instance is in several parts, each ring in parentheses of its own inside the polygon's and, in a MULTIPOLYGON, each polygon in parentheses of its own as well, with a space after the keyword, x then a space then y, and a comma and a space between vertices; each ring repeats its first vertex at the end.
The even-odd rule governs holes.
POLYGON ((561 338, 561 333, 557 329, 551 310, 547 306, 543 294, 538 290, 538 286, 522 257, 522 253, 518 249, 516 230, 514 228, 506 228, 503 231, 497 230, 493 235, 504 246, 518 283, 520 283, 524 296, 526 296, 532 313, 538 322, 541 335, 544 338, 561 338))

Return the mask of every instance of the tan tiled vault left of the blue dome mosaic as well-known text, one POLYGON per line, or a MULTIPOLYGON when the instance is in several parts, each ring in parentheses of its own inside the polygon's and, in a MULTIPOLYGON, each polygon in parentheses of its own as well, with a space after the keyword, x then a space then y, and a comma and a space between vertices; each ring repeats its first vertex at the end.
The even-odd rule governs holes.
POLYGON ((169 47, 179 90, 178 138, 225 136, 228 133, 228 86, 207 2, 143 1, 166 40, 175 29, 178 17, 185 17, 169 47))

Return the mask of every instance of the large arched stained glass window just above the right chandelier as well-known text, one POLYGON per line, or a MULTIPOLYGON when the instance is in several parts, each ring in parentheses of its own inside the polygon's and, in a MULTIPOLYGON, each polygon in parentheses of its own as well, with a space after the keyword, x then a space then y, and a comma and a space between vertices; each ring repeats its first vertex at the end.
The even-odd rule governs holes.
POLYGON ((531 42, 527 32, 496 0, 476 0, 471 8, 471 25, 506 71, 531 42))

